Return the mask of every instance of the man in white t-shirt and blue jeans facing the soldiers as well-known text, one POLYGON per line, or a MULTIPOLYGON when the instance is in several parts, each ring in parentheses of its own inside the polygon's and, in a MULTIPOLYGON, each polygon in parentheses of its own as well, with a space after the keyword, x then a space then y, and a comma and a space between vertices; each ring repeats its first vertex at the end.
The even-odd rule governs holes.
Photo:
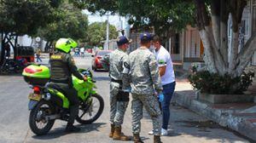
MULTIPOLYGON (((153 44, 155 49, 155 56, 159 66, 161 83, 163 86, 164 100, 161 102, 163 112, 163 123, 161 135, 167 135, 167 128, 170 119, 170 103, 172 94, 175 89, 175 75, 173 71, 172 59, 169 52, 160 44, 160 37, 154 36, 153 44)), ((150 134, 150 132, 149 132, 150 134)))

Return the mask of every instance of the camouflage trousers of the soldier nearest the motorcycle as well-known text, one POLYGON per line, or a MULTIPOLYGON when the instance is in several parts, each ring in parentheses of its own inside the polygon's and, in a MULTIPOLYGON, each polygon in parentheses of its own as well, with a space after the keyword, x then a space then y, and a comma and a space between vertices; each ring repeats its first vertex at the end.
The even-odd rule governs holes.
POLYGON ((124 123, 125 111, 128 101, 118 101, 119 83, 110 83, 110 123, 121 126, 124 123))

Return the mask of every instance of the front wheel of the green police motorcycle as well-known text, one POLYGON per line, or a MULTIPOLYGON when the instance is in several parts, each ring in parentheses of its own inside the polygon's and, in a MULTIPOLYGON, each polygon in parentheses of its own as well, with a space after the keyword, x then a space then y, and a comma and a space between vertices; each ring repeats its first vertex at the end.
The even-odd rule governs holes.
POLYGON ((99 94, 91 95, 91 102, 89 107, 84 109, 82 106, 79 107, 79 115, 77 121, 81 124, 90 124, 96 121, 103 112, 104 100, 99 94))

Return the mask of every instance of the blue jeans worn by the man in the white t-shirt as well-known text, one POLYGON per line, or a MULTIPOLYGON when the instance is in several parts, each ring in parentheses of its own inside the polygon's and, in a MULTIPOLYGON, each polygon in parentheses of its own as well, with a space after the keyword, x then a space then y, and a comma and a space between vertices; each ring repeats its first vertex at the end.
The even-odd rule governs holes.
POLYGON ((164 101, 161 103, 163 112, 162 129, 168 128, 168 123, 170 119, 170 103, 172 100, 172 94, 174 93, 175 85, 175 82, 163 85, 164 101))

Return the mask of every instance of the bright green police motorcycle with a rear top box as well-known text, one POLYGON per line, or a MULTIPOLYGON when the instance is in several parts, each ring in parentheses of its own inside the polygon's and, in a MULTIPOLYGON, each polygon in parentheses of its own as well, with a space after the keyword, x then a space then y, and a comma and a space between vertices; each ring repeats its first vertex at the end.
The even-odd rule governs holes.
MULTIPOLYGON (((79 115, 76 118, 81 124, 96 121, 102 115, 104 101, 96 93, 96 82, 92 79, 89 69, 79 69, 87 81, 73 77, 73 87, 78 91, 79 115)), ((53 127, 56 119, 67 121, 69 117, 69 101, 65 93, 54 86, 48 86, 49 68, 47 66, 27 66, 22 75, 26 83, 30 84, 33 92, 28 95, 30 110, 29 126, 37 135, 47 134, 53 127)))

